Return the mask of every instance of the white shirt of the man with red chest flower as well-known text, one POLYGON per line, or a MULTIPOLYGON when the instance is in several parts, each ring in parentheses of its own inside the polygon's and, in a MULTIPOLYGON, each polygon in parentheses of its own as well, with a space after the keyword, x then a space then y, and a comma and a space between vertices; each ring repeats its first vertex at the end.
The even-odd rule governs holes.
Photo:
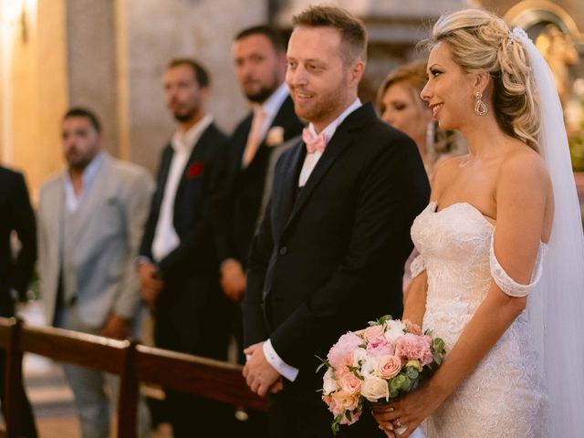
POLYGON ((201 138, 203 131, 212 122, 213 117, 207 114, 203 119, 194 124, 190 130, 186 132, 177 130, 172 136, 171 146, 174 153, 172 154, 168 177, 164 185, 161 211, 158 216, 158 223, 156 224, 156 231, 152 241, 152 256, 156 263, 160 262, 166 255, 169 255, 181 243, 181 239, 176 234, 173 224, 176 190, 179 187, 179 183, 181 183, 184 168, 187 162, 189 162, 195 144, 201 138))

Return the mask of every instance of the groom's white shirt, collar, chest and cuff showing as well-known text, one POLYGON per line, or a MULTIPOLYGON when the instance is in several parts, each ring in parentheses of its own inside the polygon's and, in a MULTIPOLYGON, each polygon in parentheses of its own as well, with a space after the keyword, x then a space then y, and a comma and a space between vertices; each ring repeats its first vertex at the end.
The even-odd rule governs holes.
MULTIPOLYGON (((347 110, 344 110, 340 113, 339 117, 333 120, 328 126, 322 130, 325 134, 327 142, 332 138, 335 134, 339 125, 343 122, 343 120, 347 119, 347 116, 354 110, 357 110, 361 106, 360 99, 356 99, 347 110)), ((317 135, 317 131, 314 129, 314 125, 312 123, 308 124, 308 129, 312 131, 313 135, 317 135)), ((306 158, 304 159, 304 164, 302 165, 302 170, 300 171, 300 176, 298 178, 298 187, 304 187, 307 183, 308 178, 314 168, 317 165, 318 160, 322 156, 323 152, 313 152, 307 153, 306 158)), ((276 353, 276 349, 272 346, 272 341, 267 339, 263 345, 264 355, 266 355, 266 360, 272 365, 282 376, 286 377, 288 381, 295 381, 298 376, 298 369, 288 365, 280 356, 276 353)))

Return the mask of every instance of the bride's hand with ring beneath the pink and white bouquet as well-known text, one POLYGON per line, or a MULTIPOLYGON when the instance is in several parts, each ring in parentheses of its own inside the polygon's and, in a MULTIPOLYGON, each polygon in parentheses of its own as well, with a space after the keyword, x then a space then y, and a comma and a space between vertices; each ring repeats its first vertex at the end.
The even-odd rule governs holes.
POLYGON ((372 409, 375 420, 380 423, 381 429, 389 436, 407 438, 416 427, 442 403, 441 397, 436 397, 427 385, 412 391, 399 401, 387 406, 375 406, 372 409), (397 430, 405 427, 405 431, 397 430))

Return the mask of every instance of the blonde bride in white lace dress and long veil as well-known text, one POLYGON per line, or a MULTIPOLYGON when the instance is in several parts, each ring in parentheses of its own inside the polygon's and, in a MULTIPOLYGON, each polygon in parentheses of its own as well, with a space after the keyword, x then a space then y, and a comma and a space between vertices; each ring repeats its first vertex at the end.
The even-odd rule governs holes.
POLYGON ((470 153, 412 225, 403 318, 446 342, 433 378, 374 415, 388 436, 584 433, 584 237, 553 78, 520 29, 442 16, 422 99, 470 153))

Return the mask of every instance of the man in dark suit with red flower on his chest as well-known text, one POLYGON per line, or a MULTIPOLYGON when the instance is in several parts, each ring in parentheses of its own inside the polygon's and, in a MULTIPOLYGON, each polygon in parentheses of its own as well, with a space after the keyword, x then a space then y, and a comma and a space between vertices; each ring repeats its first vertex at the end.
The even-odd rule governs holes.
MULTIPOLYGON (((197 62, 166 69, 167 105, 179 129, 162 151, 158 188, 141 244, 142 297, 154 314, 158 347, 226 359, 227 299, 219 286, 215 205, 222 193, 227 138, 204 110, 209 77, 197 62)), ((222 433, 228 406, 167 391, 177 438, 222 433)))

